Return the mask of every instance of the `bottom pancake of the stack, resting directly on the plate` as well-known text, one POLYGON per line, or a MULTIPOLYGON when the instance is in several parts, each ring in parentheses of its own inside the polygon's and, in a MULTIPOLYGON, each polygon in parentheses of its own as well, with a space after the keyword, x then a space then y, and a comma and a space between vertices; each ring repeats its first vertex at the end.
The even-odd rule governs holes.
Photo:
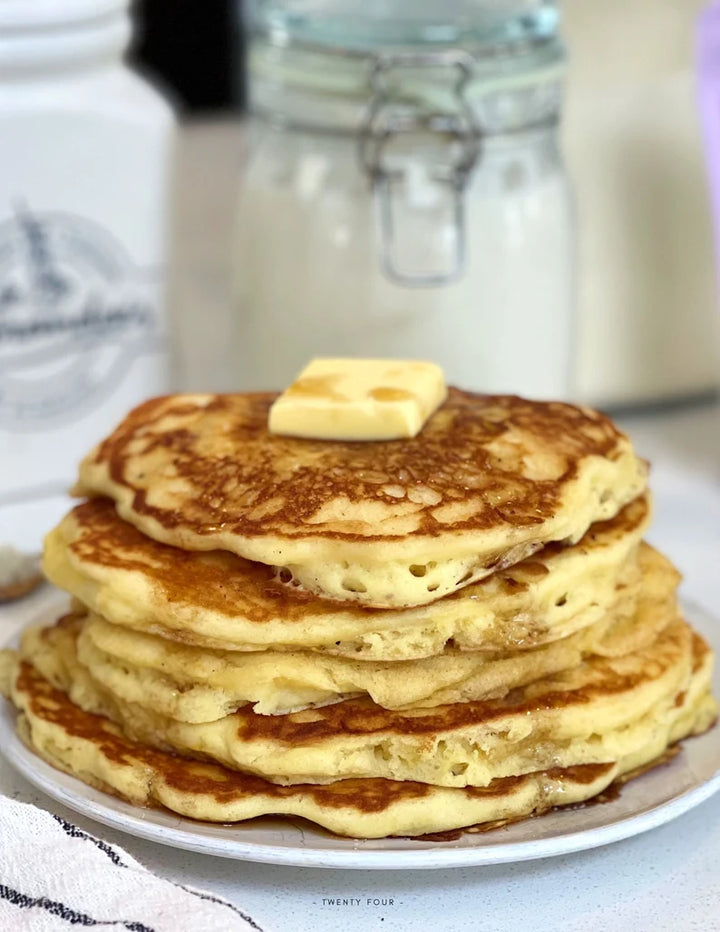
POLYGON ((278 786, 216 764, 186 760, 128 739, 117 725, 84 712, 28 663, 7 662, 0 690, 21 714, 18 732, 53 766, 98 789, 141 806, 163 806, 210 822, 261 815, 309 819, 340 835, 381 838, 445 832, 478 823, 538 815, 555 805, 581 802, 618 776, 661 759, 665 748, 711 724, 715 706, 699 682, 705 655, 699 647, 692 688, 679 696, 678 713, 618 761, 553 767, 492 781, 487 787, 447 788, 383 779, 340 780, 325 786, 278 786))

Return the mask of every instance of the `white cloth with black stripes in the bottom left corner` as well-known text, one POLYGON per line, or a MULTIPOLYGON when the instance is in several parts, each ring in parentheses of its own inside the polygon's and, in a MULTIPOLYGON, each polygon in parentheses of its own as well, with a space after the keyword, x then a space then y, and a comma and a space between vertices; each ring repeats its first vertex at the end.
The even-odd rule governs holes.
POLYGON ((0 796, 0 929, 236 932, 261 927, 221 897, 156 877, 122 848, 0 796))

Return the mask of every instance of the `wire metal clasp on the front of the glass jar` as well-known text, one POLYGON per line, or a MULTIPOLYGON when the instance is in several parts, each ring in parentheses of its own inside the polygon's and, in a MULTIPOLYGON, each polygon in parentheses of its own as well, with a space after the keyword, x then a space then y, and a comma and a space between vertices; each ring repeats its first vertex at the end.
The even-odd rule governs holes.
MULTIPOLYGON (((372 181, 385 275, 406 286, 446 285, 462 277, 467 260, 465 189, 481 151, 482 132, 465 89, 475 61, 467 52, 377 55, 374 91, 360 129, 360 162, 372 181), (403 69, 405 78, 391 87, 403 69), (409 76, 451 69, 455 109, 436 111, 435 85, 409 76)), ((447 94, 445 95, 447 99, 447 94)))

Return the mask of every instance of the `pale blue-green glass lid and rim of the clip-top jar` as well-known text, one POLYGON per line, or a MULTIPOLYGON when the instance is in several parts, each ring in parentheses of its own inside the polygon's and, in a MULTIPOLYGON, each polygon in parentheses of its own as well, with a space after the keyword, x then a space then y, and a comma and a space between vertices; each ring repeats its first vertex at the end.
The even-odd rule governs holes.
POLYGON ((547 122, 565 70, 557 19, 554 0, 255 0, 251 108, 285 124, 356 132, 379 95, 415 111, 454 111, 461 78, 463 106, 483 132, 547 122))

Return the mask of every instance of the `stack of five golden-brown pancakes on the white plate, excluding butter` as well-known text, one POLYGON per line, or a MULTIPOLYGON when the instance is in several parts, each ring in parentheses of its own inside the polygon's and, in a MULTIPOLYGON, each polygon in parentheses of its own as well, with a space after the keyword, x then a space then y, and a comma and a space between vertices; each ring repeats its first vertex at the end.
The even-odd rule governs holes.
POLYGON ((270 434, 273 398, 149 401, 81 464, 45 547, 71 610, 0 656, 43 758, 197 819, 416 836, 588 799, 711 725, 607 418, 451 389, 415 438, 317 441, 270 434))

